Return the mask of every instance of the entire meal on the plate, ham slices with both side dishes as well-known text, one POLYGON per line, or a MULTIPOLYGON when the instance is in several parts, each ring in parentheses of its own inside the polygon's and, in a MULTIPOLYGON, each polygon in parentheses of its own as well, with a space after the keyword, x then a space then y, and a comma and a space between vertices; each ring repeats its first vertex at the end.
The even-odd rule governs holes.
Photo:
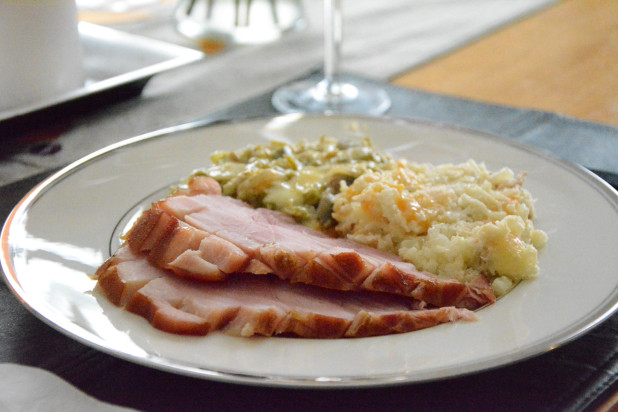
POLYGON ((471 321, 538 271, 523 175, 395 161, 368 139, 218 152, 96 272, 172 333, 340 338, 471 321))

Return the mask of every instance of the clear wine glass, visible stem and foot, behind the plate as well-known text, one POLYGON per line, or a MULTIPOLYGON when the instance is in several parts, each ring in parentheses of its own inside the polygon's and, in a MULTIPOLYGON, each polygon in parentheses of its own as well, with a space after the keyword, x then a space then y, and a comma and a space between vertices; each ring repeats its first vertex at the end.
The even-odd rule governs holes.
POLYGON ((343 25, 341 0, 324 0, 324 77, 279 88, 273 106, 283 113, 381 114, 391 105, 380 87, 339 72, 343 25))

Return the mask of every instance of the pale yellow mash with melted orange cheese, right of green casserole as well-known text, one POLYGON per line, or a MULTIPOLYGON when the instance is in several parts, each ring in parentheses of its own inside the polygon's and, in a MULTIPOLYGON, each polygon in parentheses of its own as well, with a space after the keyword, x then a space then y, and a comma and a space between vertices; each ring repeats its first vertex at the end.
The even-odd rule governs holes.
POLYGON ((336 231, 398 254, 417 268, 463 282, 492 279, 498 296, 538 272, 546 235, 534 228, 524 175, 489 172, 472 160, 440 166, 398 162, 342 182, 336 231))

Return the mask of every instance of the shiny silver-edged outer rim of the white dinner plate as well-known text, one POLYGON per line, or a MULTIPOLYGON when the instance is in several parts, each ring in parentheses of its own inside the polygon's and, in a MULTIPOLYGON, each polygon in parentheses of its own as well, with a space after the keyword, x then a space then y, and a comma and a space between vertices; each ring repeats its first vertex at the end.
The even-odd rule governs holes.
MULTIPOLYGON (((387 123, 403 123, 403 124, 417 124, 428 127, 435 127, 440 129, 451 129, 454 131, 459 131, 463 133, 473 134, 475 136, 488 138, 492 140, 498 140, 501 143, 506 143, 509 146, 513 146, 517 149, 524 150, 526 152, 532 153, 535 156, 541 157, 545 161, 550 161, 551 163, 560 166, 562 170, 566 170, 571 174, 575 174, 578 178, 583 179, 587 184, 592 185, 594 189, 599 192, 603 197, 613 206, 613 209, 618 212, 618 191, 616 191, 611 185, 607 182, 596 176, 594 173, 589 171, 588 169, 570 162, 568 160, 559 158, 547 151, 541 150, 537 147, 531 146, 530 144, 519 142, 512 138, 507 138, 504 136, 495 135, 492 133, 487 133, 484 131, 479 131, 475 129, 452 126, 449 124, 443 124, 440 122, 433 121, 423 121, 416 119, 408 119, 408 118, 400 118, 400 117, 391 117, 391 116, 365 116, 365 115, 340 115, 340 114, 272 114, 272 115, 261 115, 261 116, 247 116, 247 117, 236 117, 236 118, 222 118, 222 119, 200 119, 187 123, 181 123, 177 125, 173 125, 170 127, 162 128, 159 130, 155 130, 152 132, 144 133, 129 139, 122 140, 120 142, 111 144, 102 149, 99 149, 89 155, 78 159, 66 167, 60 169, 59 171, 53 173, 39 184, 37 184, 34 188, 32 188, 20 201, 17 205, 11 210, 8 218, 6 219, 2 232, 0 233, 1 247, 2 253, 0 254, 0 266, 2 268, 2 274, 4 282, 9 286, 9 289, 13 293, 14 296, 18 298, 20 303, 25 306, 32 314, 41 319, 44 323, 49 326, 52 326, 54 329, 64 334, 65 336, 75 339, 87 346, 94 347, 101 352, 107 353, 109 355, 115 356, 117 358, 121 358, 136 364, 140 364, 142 366, 151 367, 154 369, 163 370, 166 372, 175 373, 178 375, 191 376, 195 378, 201 379, 210 379, 214 381, 227 382, 227 383, 241 383, 248 385, 260 385, 260 386, 272 386, 272 387, 289 387, 289 388, 361 388, 361 387, 382 387, 382 386, 394 386, 400 384, 418 384, 423 382, 432 382, 432 381, 441 381, 446 379, 451 379, 454 377, 465 376, 475 373, 486 372, 492 369, 509 366, 536 356, 540 356, 548 351, 551 351, 555 348, 564 346, 565 344, 575 340, 576 338, 584 335, 589 332, 593 328, 597 327, 609 317, 611 317, 615 312, 618 311, 618 282, 614 287, 612 293, 610 293, 606 299, 601 302, 598 302, 593 310, 591 310, 585 317, 581 318, 575 325, 570 326, 569 328, 565 328, 559 333, 547 336, 540 341, 533 342, 529 344, 527 347, 523 347, 521 350, 518 350, 515 354, 509 356, 509 359, 505 359, 504 355, 495 356, 494 358, 485 359, 482 362, 482 365, 478 367, 467 368, 466 366, 470 363, 478 363, 478 362, 468 362, 462 364, 463 368, 466 370, 460 370, 456 373, 444 374, 441 373, 443 369, 439 369, 434 371, 431 376, 425 376, 421 379, 415 378, 414 376, 410 376, 410 374, 401 374, 401 373, 391 373, 391 374, 382 374, 382 375, 372 375, 371 377, 367 376, 349 376, 345 378, 329 378, 329 377, 293 377, 289 375, 285 376, 272 376, 266 374, 244 374, 238 373, 234 371, 223 371, 223 370, 211 370, 208 368, 200 368, 191 365, 182 365, 182 369, 179 368, 179 364, 181 362, 177 360, 170 361, 167 358, 159 357, 158 360, 154 361, 150 358, 140 358, 135 355, 121 353, 113 348, 107 348, 104 345, 93 342, 92 340, 87 340, 85 337, 80 336, 70 330, 67 330, 60 325, 55 324, 52 320, 45 317, 42 313, 39 313, 35 310, 26 299, 26 292, 23 289, 18 288, 19 282, 17 280, 17 275, 15 273, 15 268, 10 261, 10 250, 9 250, 9 231, 13 220, 27 210, 30 206, 32 206, 46 191, 51 190, 56 183, 59 183, 64 178, 70 176, 72 173, 79 171, 82 167, 86 167, 91 161, 96 160, 99 157, 106 156, 118 149, 123 147, 131 146, 131 145, 139 145, 145 142, 150 141, 151 139, 156 138, 165 138, 166 136, 171 136, 175 133, 196 130, 200 128, 210 128, 218 125, 234 125, 237 123, 243 122, 259 122, 259 121, 267 121, 268 119, 272 120, 275 118, 289 118, 289 119, 300 119, 300 118, 340 118, 343 119, 364 119, 370 121, 381 121, 387 123), (10 274, 10 275, 9 275, 10 274), (15 282, 15 284, 13 284, 15 282), (20 293, 21 292, 21 293, 20 293)), ((461 368, 460 368, 461 369, 461 368)))

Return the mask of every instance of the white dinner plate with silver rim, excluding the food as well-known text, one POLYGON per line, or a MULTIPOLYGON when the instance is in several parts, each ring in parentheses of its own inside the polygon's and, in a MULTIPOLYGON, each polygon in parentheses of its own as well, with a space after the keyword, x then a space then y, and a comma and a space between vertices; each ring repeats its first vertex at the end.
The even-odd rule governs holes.
POLYGON ((190 123, 87 156, 35 187, 2 231, 13 293, 36 316, 86 345, 149 367, 227 382, 362 387, 469 374, 544 353, 587 332, 618 306, 618 194, 576 165, 512 140, 386 117, 300 114, 190 123), (359 339, 188 337, 111 305, 90 276, 141 210, 215 150, 272 139, 370 137, 396 158, 525 171, 535 227, 549 241, 536 280, 520 283, 477 322, 359 339))

